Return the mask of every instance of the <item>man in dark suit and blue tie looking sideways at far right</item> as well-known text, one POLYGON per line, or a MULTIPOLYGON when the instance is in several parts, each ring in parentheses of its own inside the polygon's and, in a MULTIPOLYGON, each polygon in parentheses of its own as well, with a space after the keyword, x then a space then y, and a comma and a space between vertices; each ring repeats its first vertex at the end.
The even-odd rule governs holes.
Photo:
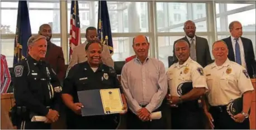
POLYGON ((243 29, 238 21, 233 21, 229 24, 229 32, 231 36, 222 39, 229 49, 227 57, 230 61, 234 61, 246 68, 250 78, 253 78, 253 74, 256 74, 256 61, 252 41, 241 37, 243 29))

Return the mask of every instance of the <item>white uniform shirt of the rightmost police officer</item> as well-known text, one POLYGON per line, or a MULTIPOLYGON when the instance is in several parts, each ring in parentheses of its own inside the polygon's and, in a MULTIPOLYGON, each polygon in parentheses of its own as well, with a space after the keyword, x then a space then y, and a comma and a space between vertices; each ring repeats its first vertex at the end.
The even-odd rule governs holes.
POLYGON ((204 71, 209 89, 207 97, 211 106, 226 105, 241 97, 244 92, 253 90, 246 69, 229 59, 221 66, 211 63, 204 71))

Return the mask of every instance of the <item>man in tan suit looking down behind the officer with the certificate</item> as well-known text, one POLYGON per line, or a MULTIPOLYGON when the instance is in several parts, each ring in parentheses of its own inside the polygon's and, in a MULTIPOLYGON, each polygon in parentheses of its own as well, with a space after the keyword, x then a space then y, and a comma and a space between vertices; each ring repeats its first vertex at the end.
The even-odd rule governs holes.
MULTIPOLYGON (((79 46, 77 46, 73 49, 73 54, 69 61, 69 66, 68 66, 67 72, 75 64, 87 61, 86 49, 85 49, 86 44, 88 43, 88 41, 91 41, 91 40, 97 38, 97 36, 98 36, 97 29, 95 27, 88 27, 86 29, 86 42, 84 42, 83 44, 80 44, 79 46)), ((113 62, 113 59, 110 54, 110 50, 108 49, 107 45, 103 44, 103 51, 101 54, 102 54, 102 56, 101 56, 102 62, 104 64, 106 64, 107 66, 113 67, 114 62, 113 62)))

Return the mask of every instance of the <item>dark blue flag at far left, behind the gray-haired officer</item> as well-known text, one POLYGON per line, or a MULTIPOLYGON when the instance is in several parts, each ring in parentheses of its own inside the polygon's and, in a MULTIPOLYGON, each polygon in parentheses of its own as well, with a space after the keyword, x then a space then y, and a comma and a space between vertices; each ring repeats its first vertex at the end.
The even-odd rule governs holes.
POLYGON ((18 1, 18 16, 15 34, 13 66, 27 56, 27 41, 31 37, 27 1, 18 1))

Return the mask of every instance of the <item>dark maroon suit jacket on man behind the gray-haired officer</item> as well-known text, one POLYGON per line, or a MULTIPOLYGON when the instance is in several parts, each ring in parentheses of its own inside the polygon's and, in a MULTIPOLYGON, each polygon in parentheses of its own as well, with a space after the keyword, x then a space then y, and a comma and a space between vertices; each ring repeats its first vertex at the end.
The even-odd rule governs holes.
POLYGON ((48 42, 47 52, 44 59, 54 69, 60 81, 65 77, 65 59, 62 48, 48 42))

